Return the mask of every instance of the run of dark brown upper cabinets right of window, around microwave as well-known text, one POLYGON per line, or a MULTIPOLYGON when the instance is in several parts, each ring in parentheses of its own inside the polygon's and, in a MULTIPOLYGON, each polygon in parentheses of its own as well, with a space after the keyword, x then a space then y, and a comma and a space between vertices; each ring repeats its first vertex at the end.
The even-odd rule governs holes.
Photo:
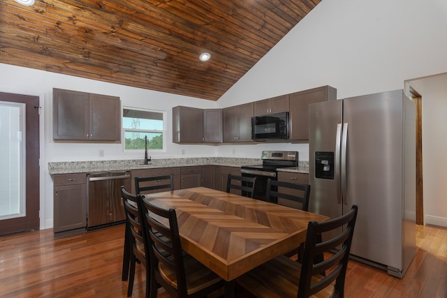
POLYGON ((223 109, 173 107, 173 142, 254 142, 251 117, 281 112, 289 112, 289 140, 309 140, 309 105, 336 99, 337 89, 323 86, 223 109))

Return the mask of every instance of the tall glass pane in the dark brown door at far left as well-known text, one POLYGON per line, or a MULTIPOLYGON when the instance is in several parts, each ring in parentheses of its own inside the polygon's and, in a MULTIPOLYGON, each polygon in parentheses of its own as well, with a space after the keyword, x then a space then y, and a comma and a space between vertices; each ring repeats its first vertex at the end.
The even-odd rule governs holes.
POLYGON ((26 216, 23 103, 0 101, 0 220, 26 216))

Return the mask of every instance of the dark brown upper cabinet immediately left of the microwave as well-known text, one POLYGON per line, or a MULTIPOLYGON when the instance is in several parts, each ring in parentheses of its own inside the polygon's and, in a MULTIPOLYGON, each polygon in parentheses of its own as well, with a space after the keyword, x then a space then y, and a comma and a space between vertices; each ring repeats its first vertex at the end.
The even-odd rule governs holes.
POLYGON ((251 117, 254 104, 245 103, 222 109, 223 142, 252 142, 251 117))

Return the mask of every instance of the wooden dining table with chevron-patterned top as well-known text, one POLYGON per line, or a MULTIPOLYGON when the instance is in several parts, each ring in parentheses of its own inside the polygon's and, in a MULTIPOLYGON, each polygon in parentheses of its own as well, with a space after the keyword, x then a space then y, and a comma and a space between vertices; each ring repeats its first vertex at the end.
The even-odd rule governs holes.
POLYGON ((305 241, 309 221, 328 217, 279 204, 196 187, 146 195, 177 214, 182 248, 227 281, 305 241))

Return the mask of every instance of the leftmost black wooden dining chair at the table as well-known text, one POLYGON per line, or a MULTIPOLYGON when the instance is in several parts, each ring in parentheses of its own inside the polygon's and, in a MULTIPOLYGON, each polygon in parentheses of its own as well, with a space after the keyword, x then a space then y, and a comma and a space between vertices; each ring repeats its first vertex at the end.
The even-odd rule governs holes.
MULTIPOLYGON (((147 262, 147 254, 145 252, 145 240, 142 236, 142 221, 140 221, 140 211, 138 210, 138 201, 141 195, 133 195, 121 186, 121 194, 124 203, 124 211, 126 213, 126 232, 124 233, 124 257, 129 258, 129 285, 127 288, 127 297, 132 296, 133 279, 135 276, 135 263, 137 260, 145 266, 146 269, 146 291, 149 292, 149 264, 147 262), (129 249, 126 252, 126 249, 129 249)), ((123 260, 124 274, 124 260, 123 260)), ((124 279, 123 279, 124 280, 124 279)))

